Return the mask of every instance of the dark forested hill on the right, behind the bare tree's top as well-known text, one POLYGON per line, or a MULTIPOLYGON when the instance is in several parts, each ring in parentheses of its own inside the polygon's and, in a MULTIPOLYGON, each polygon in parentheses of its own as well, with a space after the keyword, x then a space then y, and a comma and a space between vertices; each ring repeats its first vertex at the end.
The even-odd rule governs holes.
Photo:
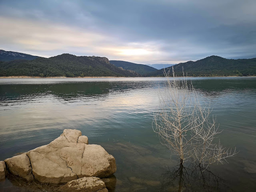
MULTIPOLYGON (((198 61, 188 61, 174 65, 177 76, 256 76, 256 58, 226 59, 219 56, 210 56, 198 61)), ((168 71, 171 68, 166 68, 168 71)), ((164 76, 164 69, 148 73, 144 76, 164 76)))

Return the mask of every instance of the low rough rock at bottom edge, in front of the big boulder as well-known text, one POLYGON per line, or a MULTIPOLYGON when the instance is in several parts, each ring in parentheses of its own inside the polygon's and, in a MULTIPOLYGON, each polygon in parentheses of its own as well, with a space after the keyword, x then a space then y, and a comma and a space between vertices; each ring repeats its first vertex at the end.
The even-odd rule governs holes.
POLYGON ((58 188, 59 192, 108 192, 105 183, 97 177, 72 180, 58 188))

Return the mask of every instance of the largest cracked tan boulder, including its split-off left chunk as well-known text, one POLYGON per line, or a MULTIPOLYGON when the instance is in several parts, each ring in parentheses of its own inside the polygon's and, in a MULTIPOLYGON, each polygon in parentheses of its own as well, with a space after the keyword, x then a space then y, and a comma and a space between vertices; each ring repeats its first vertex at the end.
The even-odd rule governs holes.
POLYGON ((48 145, 5 160, 8 170, 27 180, 63 184, 82 177, 116 172, 115 158, 100 145, 88 145, 79 130, 65 129, 48 145))

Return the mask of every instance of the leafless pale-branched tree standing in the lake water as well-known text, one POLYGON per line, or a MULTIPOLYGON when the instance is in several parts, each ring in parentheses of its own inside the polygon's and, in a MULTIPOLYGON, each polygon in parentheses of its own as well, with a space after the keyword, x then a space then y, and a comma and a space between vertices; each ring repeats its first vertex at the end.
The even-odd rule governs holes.
POLYGON ((220 132, 216 118, 211 116, 210 104, 199 101, 192 82, 185 76, 177 80, 172 68, 173 80, 168 71, 164 93, 159 94, 160 110, 154 114, 153 130, 166 145, 180 158, 180 165, 187 160, 209 165, 236 154, 236 150, 224 148, 214 138, 220 132))

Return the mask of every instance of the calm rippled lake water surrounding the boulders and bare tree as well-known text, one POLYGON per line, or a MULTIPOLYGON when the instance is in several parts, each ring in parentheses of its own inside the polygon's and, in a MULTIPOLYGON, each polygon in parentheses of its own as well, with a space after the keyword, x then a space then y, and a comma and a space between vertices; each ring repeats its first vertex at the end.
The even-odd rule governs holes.
MULTIPOLYGON (((240 151, 202 174, 187 166, 182 191, 256 191, 256 78, 190 78, 210 101, 224 146, 240 151)), ((0 79, 0 160, 50 143, 66 128, 116 158, 116 192, 178 191, 178 159, 152 130, 165 78, 0 79)), ((2 191, 22 191, 0 182, 2 191)))

